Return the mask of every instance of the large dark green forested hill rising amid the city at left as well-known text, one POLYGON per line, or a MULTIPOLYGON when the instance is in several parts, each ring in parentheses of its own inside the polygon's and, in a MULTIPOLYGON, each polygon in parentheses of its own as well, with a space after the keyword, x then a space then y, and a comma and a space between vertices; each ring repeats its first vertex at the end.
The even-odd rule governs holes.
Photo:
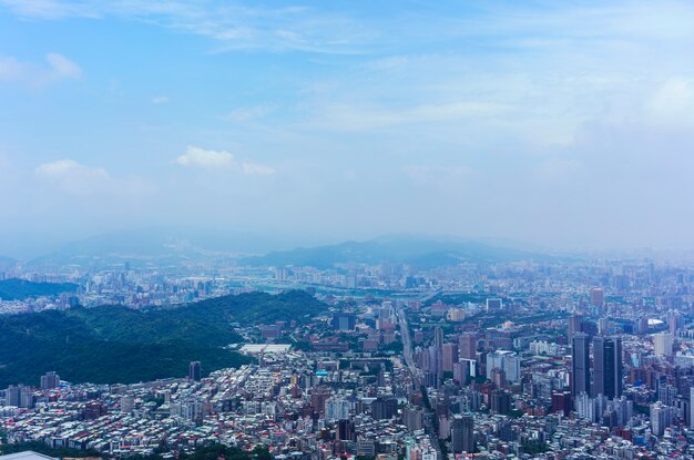
POLYGON ((242 294, 139 311, 121 306, 0 316, 0 388, 61 378, 95 384, 183 377, 192 360, 210 372, 247 362, 223 347, 246 325, 300 319, 325 304, 303 292, 242 294))

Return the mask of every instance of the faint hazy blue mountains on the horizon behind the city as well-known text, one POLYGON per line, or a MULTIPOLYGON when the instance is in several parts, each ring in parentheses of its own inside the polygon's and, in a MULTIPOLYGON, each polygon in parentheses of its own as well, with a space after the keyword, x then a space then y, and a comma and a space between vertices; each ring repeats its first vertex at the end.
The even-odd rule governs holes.
POLYGON ((411 264, 420 268, 463 262, 496 263, 548 259, 540 251, 528 251, 506 243, 389 235, 368 241, 297 247, 296 239, 234 232, 127 231, 113 232, 65 244, 30 266, 104 266, 130 263, 177 265, 184 262, 217 262, 251 266, 304 265, 329 268, 340 264, 411 264))

